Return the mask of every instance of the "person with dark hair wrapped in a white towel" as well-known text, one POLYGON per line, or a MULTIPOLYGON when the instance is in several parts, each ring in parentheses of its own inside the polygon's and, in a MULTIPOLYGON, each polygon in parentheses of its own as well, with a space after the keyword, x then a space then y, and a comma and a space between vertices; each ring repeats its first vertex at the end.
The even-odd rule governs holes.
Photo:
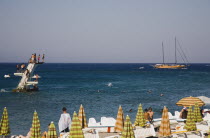
POLYGON ((63 107, 63 113, 61 114, 60 120, 58 122, 59 132, 69 132, 71 127, 71 117, 67 113, 66 107, 63 107))

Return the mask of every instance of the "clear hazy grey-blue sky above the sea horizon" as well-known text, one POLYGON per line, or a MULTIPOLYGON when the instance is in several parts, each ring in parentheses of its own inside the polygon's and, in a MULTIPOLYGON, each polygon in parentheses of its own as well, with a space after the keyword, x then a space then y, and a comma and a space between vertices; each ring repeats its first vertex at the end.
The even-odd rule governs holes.
POLYGON ((209 13, 209 0, 1 0, 0 62, 161 63, 163 42, 172 63, 176 37, 209 63, 209 13))

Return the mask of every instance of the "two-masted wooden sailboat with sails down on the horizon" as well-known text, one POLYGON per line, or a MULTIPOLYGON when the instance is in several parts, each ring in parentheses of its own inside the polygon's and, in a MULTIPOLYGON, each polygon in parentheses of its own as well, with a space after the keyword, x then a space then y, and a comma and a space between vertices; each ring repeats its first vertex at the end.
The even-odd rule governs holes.
MULTIPOLYGON (((175 37, 175 64, 166 64, 165 63, 165 57, 164 57, 164 46, 163 46, 163 42, 162 42, 162 52, 163 52, 163 63, 162 64, 155 64, 154 68, 157 69, 185 69, 187 68, 187 64, 177 64, 177 46, 176 46, 176 37, 175 37)), ((182 53, 184 54, 183 50, 182 53)), ((182 56, 182 59, 184 60, 184 58, 186 58, 185 54, 184 57, 182 56)), ((186 59, 187 60, 187 59, 186 59)))

